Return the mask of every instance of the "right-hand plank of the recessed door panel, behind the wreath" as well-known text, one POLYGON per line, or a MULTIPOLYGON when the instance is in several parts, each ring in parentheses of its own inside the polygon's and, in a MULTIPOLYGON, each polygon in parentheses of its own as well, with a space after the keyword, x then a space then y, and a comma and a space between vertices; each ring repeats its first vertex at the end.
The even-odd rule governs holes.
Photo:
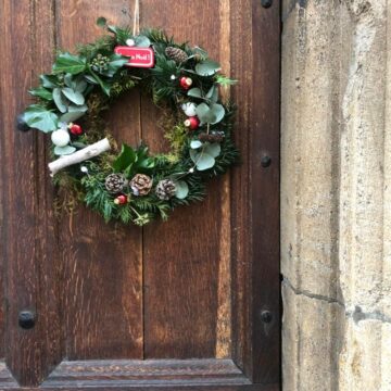
MULTIPOLYGON (((186 1, 171 0, 164 2, 164 9, 169 12, 162 12, 156 1, 142 1, 141 25, 162 26, 176 41, 205 47, 218 60, 219 33, 214 29, 219 21, 218 1, 195 0, 189 8, 186 1), (197 21, 197 28, 189 21, 197 21)), ((159 114, 147 99, 141 109, 142 137, 152 151, 161 151, 164 139, 155 126, 159 114)), ((223 181, 209 184, 209 197, 203 203, 179 209, 168 224, 155 223, 144 229, 148 358, 216 355, 218 270, 226 231, 222 216, 227 206, 223 202, 223 181)), ((229 291, 220 294, 229 295, 229 291)))

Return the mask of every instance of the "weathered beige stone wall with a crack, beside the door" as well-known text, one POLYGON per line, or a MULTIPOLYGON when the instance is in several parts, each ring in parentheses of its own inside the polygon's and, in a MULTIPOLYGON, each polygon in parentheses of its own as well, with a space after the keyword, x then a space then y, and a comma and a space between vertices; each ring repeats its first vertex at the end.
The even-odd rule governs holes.
POLYGON ((391 0, 283 0, 283 388, 391 391, 391 0))

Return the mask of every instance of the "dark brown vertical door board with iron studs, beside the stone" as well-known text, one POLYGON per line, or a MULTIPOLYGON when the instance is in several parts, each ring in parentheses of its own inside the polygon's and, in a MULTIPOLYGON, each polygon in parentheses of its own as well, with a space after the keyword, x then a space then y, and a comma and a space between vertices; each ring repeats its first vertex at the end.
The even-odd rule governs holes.
POLYGON ((231 2, 234 91, 242 168, 234 172, 235 358, 254 382, 279 379, 279 2, 231 2), (252 23, 249 23, 251 21, 252 23), (243 51, 243 41, 252 42, 243 51), (252 87, 250 87, 252 86, 252 87), (262 167, 263 155, 272 165, 262 167), (247 260, 241 262, 241 260, 247 260), (251 276, 251 277, 250 277, 251 276), (250 278, 249 278, 250 277, 250 278), (261 319, 264 310, 273 320, 261 319), (245 330, 251 330, 247 332, 245 330))

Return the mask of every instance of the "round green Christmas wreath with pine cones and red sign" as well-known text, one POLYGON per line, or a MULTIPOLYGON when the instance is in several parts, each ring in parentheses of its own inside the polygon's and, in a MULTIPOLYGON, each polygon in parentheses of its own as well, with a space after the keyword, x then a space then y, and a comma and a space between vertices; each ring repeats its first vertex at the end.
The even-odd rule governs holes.
POLYGON ((111 34, 56 54, 52 72, 29 91, 37 103, 18 115, 17 128, 51 134, 59 209, 85 202, 106 222, 139 226, 166 219, 174 207, 202 200, 205 181, 237 161, 234 105, 219 98, 219 87, 235 80, 203 49, 160 29, 134 35, 104 18, 98 24, 111 34), (169 153, 151 155, 142 142, 117 148, 110 135, 102 112, 136 86, 163 109, 169 153))

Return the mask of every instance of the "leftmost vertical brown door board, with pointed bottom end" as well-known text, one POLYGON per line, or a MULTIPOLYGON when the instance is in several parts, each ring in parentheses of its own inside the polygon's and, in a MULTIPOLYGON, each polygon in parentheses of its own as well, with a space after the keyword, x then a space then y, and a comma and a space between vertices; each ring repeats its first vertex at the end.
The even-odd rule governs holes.
POLYGON ((7 184, 2 258, 7 260, 7 363, 20 383, 36 384, 61 361, 60 291, 56 279, 47 278, 55 276, 56 262, 51 191, 41 177, 46 165, 43 137, 33 131, 16 133, 14 124, 16 114, 27 104, 26 91, 31 76, 36 76, 33 70, 51 63, 53 7, 51 0, 4 1, 1 14, 4 31, 0 45, 5 53, 1 155, 5 160, 2 180, 7 184), (17 325, 22 310, 34 311, 37 316, 35 328, 28 332, 17 325))

